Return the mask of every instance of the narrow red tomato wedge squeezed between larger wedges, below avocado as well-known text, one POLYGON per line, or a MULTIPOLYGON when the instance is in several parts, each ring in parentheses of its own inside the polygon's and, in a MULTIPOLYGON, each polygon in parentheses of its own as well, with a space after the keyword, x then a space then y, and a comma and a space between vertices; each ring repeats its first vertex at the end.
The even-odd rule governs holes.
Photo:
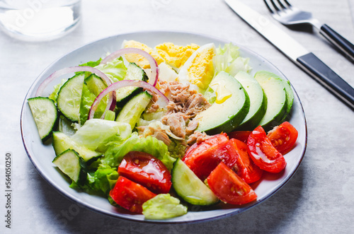
POLYGON ((237 139, 230 139, 229 143, 232 150, 237 155, 236 165, 234 165, 234 172, 241 177, 247 184, 251 184, 261 179, 263 170, 258 168, 253 160, 250 158, 247 145, 237 139))

